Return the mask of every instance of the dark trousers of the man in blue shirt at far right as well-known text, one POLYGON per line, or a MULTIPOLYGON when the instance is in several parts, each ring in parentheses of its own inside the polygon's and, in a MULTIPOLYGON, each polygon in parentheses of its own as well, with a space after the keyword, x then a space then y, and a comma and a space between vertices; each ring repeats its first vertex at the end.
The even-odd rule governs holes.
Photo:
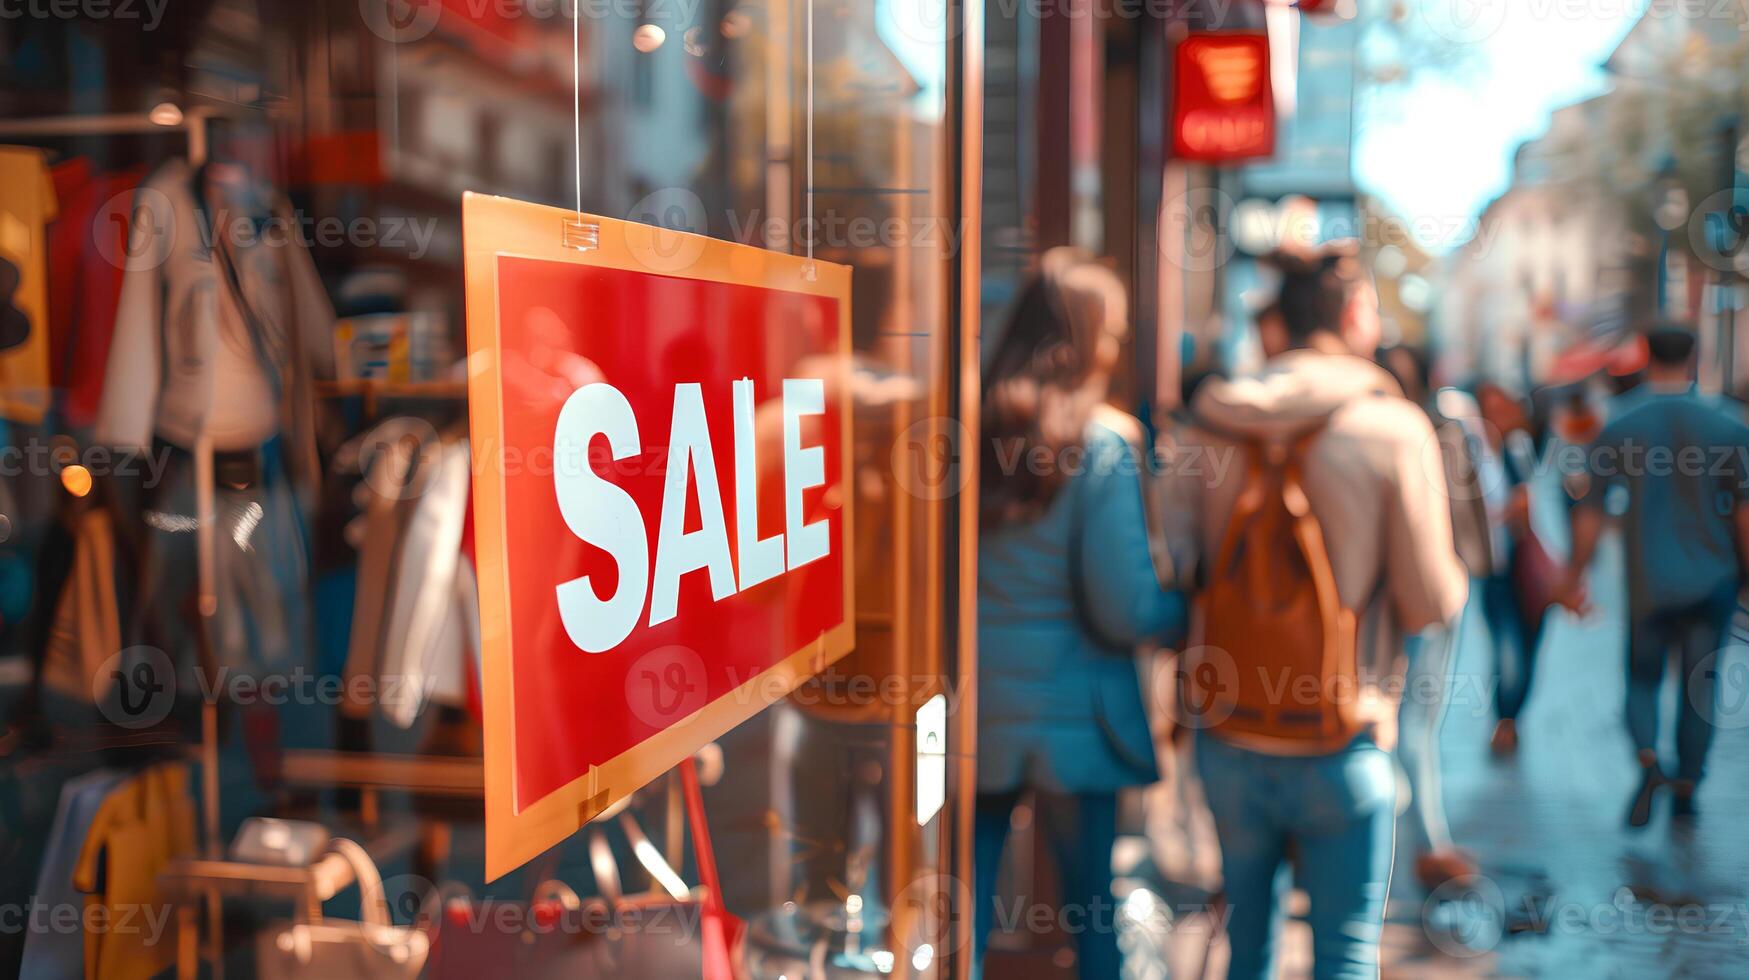
POLYGON ((1681 609, 1632 611, 1628 625, 1628 732, 1639 751, 1658 751, 1658 693, 1665 665, 1679 656, 1676 775, 1700 782, 1712 747, 1712 712, 1718 667, 1712 656, 1725 646, 1737 612, 1737 583, 1721 583, 1702 602, 1681 609))

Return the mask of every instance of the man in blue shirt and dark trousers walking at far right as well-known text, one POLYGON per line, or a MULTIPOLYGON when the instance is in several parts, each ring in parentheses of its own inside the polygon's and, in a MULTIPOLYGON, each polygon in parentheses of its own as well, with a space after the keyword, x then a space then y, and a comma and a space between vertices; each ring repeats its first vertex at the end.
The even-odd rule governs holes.
POLYGON ((1586 606, 1585 569, 1604 528, 1611 486, 1627 490, 1621 530, 1628 586, 1627 721, 1641 780, 1628 826, 1651 821, 1660 788, 1672 791, 1672 816, 1691 819, 1712 744, 1716 677, 1711 662, 1725 642, 1749 546, 1749 425, 1726 402, 1702 396, 1695 334, 1662 324, 1646 336, 1651 364, 1642 394, 1597 438, 1590 488, 1572 509, 1572 558, 1560 602, 1586 606), (1719 467, 1725 460, 1728 466, 1719 467), (1676 775, 1658 761, 1658 696, 1665 665, 1679 660, 1676 775))

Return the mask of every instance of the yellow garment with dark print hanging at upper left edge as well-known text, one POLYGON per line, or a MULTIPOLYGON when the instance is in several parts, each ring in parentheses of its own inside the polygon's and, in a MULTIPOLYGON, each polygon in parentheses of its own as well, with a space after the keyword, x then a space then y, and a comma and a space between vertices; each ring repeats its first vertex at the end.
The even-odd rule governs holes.
POLYGON ((0 147, 0 415, 49 410, 47 233, 54 184, 42 150, 0 147))

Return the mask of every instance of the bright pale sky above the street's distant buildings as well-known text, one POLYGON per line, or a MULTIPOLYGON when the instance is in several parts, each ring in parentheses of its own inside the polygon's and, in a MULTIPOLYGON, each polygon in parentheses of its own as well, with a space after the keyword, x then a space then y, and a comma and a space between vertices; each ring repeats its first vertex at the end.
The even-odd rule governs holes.
MULTIPOLYGON (((1460 79, 1424 72, 1357 108, 1354 172, 1399 215, 1466 226, 1511 182, 1513 150, 1551 110, 1606 91, 1600 65, 1635 0, 1410 0, 1436 37, 1478 46, 1460 79), (1467 21, 1453 21, 1453 10, 1467 21)), ((1467 231, 1431 247, 1457 247, 1467 231)))

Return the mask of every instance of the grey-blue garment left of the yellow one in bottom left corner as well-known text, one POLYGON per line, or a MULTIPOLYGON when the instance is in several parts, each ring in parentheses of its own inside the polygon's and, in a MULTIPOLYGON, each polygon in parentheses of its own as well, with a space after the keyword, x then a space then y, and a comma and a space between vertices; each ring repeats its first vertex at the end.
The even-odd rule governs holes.
MULTIPOLYGON (((73 891, 73 870, 84 850, 91 824, 110 791, 128 777, 115 768, 100 768, 61 786, 61 802, 54 808, 47 847, 42 850, 42 868, 37 872, 37 905, 42 908, 80 908, 82 896, 73 891)), ((19 980, 65 980, 79 976, 86 968, 86 942, 82 933, 68 929, 26 929, 24 961, 19 980)))

